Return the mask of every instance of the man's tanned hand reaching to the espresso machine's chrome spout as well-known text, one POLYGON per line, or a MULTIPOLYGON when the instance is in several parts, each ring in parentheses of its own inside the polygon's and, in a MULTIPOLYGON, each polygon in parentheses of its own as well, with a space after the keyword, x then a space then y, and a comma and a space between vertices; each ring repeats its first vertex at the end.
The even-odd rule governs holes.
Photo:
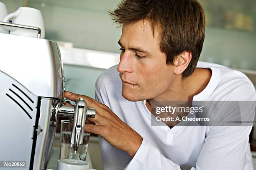
POLYGON ((100 135, 111 145, 127 152, 133 158, 141 146, 143 139, 141 135, 119 119, 108 106, 88 96, 74 94, 69 91, 65 92, 65 97, 72 101, 77 101, 82 97, 87 102, 87 107, 96 109, 95 118, 87 118, 95 124, 86 123, 84 126, 85 132, 100 135))

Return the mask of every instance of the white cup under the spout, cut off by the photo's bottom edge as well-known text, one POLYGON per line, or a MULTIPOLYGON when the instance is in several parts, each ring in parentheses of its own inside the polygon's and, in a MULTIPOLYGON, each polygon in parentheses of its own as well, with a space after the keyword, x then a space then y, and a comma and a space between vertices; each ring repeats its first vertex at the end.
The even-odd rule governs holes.
POLYGON ((82 160, 60 159, 57 170, 89 170, 89 163, 82 160))

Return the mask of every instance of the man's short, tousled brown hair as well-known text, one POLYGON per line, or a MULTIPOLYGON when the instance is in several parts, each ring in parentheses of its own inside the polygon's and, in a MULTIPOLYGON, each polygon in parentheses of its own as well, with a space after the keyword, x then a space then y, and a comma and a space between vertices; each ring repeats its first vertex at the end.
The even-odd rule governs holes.
POLYGON ((193 73, 205 39, 205 14, 197 0, 122 0, 110 15, 119 26, 148 20, 153 35, 160 28, 160 50, 166 54, 166 64, 189 51, 192 59, 182 77, 193 73))

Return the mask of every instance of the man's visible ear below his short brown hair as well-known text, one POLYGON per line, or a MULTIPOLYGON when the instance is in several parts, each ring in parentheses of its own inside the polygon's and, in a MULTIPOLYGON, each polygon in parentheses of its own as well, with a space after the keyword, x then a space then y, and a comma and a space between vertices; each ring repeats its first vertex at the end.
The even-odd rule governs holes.
POLYGON ((189 65, 192 58, 192 53, 189 51, 184 51, 182 54, 176 57, 174 60, 174 74, 182 74, 187 66, 189 65))

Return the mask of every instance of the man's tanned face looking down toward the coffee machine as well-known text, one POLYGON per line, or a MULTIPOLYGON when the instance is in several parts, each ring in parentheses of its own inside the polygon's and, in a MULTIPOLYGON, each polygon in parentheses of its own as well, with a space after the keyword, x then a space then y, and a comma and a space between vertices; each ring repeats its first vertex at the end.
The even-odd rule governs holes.
POLYGON ((118 72, 122 79, 122 95, 129 101, 158 98, 168 91, 174 73, 166 65, 166 55, 160 51, 159 31, 151 29, 145 20, 123 25, 118 72))

